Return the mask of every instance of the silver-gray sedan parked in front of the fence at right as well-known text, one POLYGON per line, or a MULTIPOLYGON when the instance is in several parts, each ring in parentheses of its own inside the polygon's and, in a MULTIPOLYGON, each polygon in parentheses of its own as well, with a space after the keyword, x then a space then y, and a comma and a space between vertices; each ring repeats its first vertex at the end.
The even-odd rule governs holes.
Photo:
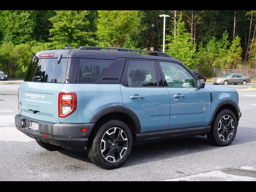
POLYGON ((250 77, 246 77, 242 74, 236 74, 236 73, 228 73, 224 74, 222 77, 215 77, 212 80, 213 84, 242 84, 246 85, 246 83, 250 83, 250 77))

